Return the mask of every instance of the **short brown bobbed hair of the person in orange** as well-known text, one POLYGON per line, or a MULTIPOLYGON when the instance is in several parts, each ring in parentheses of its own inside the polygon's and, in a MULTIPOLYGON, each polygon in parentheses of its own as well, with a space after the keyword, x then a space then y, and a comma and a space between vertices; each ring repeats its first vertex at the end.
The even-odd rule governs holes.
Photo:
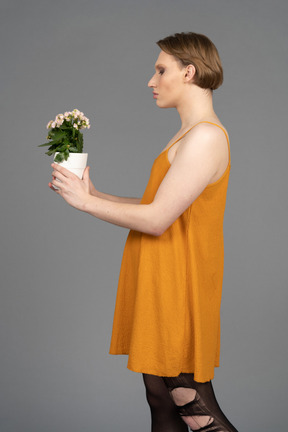
POLYGON ((203 89, 216 90, 223 82, 219 53, 213 42, 198 33, 175 33, 157 42, 160 49, 173 55, 182 66, 196 69, 193 83, 203 89))

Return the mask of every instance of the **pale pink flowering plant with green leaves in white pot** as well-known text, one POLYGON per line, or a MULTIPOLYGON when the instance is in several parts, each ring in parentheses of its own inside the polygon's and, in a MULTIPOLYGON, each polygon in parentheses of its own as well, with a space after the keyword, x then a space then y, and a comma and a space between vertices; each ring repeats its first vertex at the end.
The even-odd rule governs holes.
POLYGON ((83 134, 80 130, 86 128, 90 129, 89 119, 78 109, 58 114, 47 124, 47 139, 50 141, 39 147, 49 146, 46 154, 54 155, 54 162, 82 178, 88 153, 83 153, 83 134))

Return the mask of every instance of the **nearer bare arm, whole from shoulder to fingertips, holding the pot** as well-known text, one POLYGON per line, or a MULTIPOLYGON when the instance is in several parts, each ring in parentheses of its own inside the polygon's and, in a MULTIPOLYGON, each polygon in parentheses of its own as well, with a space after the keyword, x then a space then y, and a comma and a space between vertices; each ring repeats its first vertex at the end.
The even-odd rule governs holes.
POLYGON ((215 127, 202 124, 188 135, 179 146, 151 204, 115 202, 92 196, 89 193, 88 170, 81 181, 63 167, 53 165, 52 175, 59 178, 62 184, 53 180, 51 186, 60 186, 56 192, 70 205, 99 219, 147 234, 161 235, 211 182, 223 163, 223 157, 226 157, 227 143, 223 145, 223 133, 215 127))

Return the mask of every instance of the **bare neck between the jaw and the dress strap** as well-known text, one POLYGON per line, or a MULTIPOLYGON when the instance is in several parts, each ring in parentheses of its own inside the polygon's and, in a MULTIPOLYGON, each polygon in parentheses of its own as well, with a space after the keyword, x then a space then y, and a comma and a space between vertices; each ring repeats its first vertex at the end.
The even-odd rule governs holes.
POLYGON ((207 119, 215 119, 212 91, 191 86, 189 93, 180 101, 176 109, 181 119, 181 130, 207 119), (188 96, 188 97, 187 97, 188 96))

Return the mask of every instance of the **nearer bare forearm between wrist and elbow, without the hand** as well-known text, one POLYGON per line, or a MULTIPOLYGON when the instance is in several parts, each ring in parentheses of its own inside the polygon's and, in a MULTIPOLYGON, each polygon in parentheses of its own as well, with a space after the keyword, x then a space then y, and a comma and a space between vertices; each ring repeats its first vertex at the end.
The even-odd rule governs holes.
POLYGON ((83 204, 82 211, 103 221, 123 228, 140 231, 154 236, 162 232, 157 224, 156 209, 152 204, 115 202, 90 196, 83 204))

